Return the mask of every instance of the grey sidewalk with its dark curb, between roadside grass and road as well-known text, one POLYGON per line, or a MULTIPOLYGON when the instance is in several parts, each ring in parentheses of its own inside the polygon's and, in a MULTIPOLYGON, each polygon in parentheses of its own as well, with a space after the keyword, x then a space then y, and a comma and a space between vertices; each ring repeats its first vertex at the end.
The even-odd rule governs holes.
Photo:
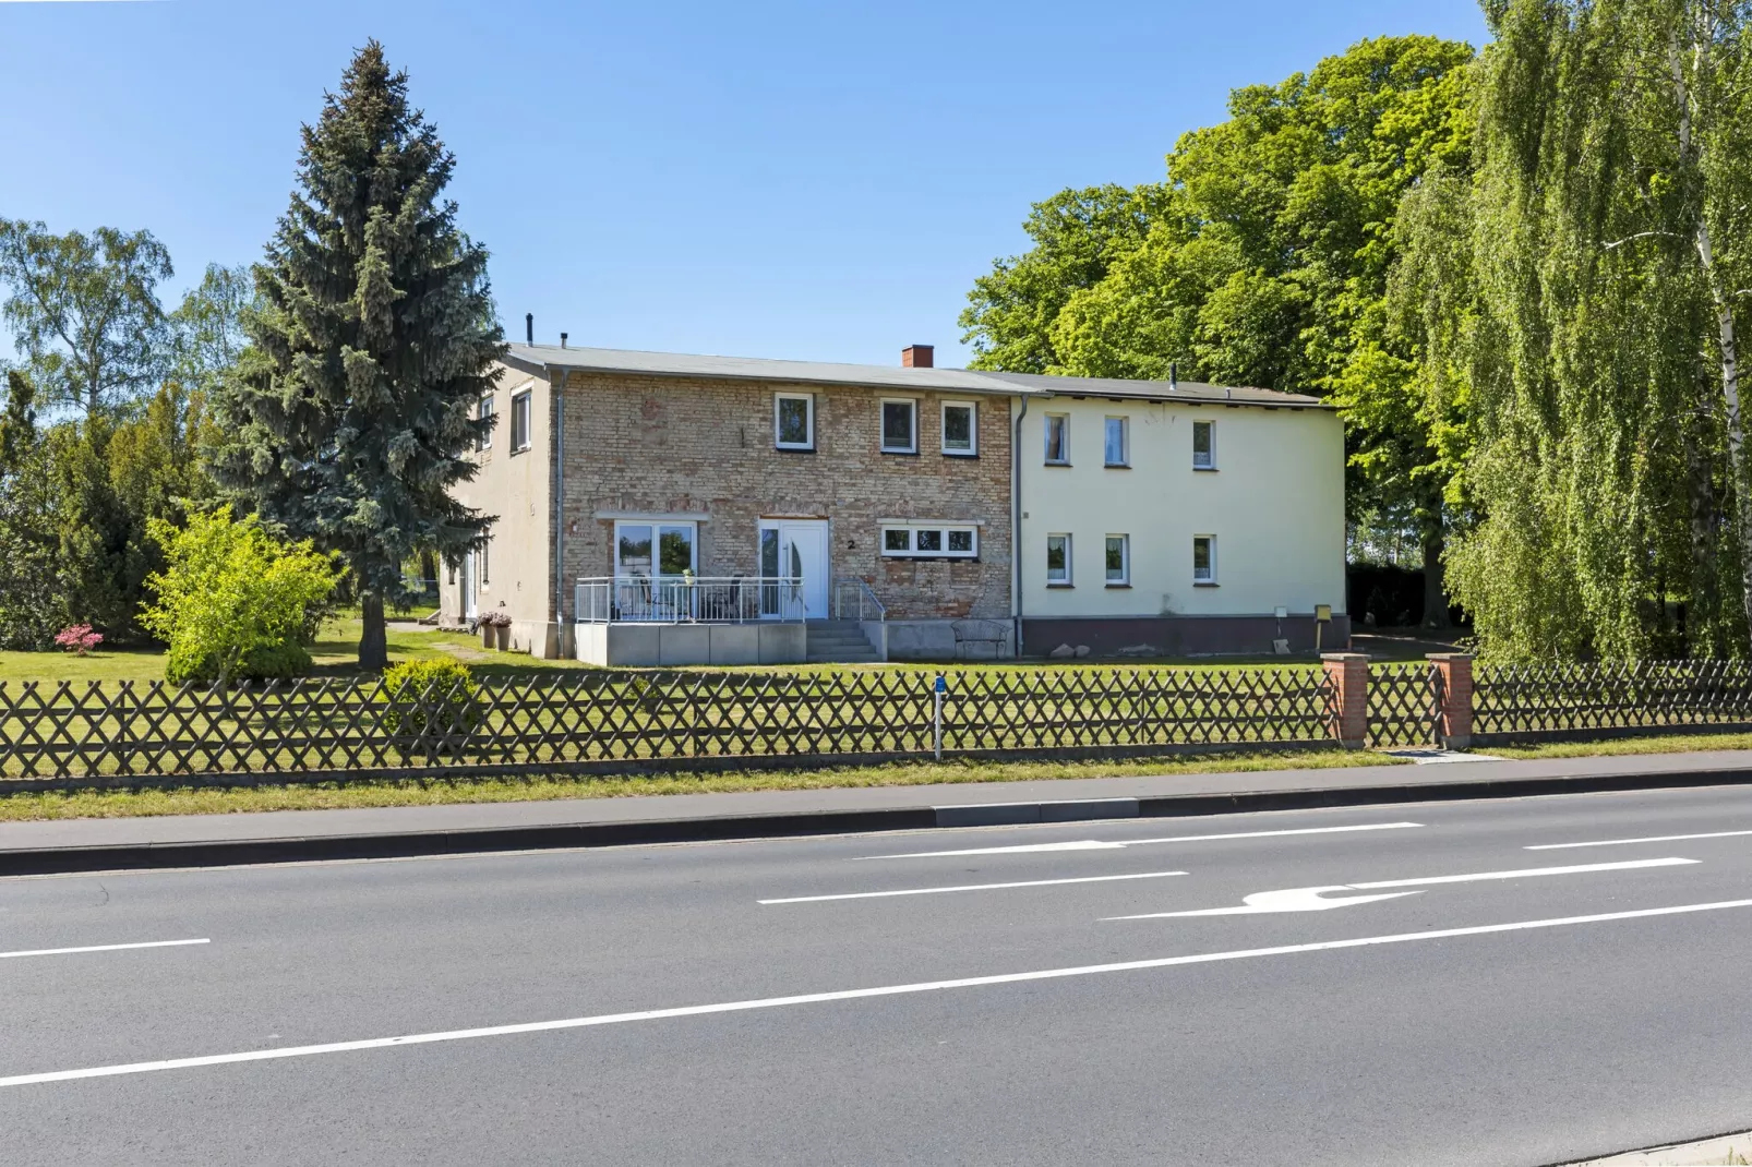
MULTIPOLYGON (((1454 757, 1454 755, 1449 755, 1454 757)), ((1738 750, 0 824, 0 874, 687 843, 1752 783, 1738 750)))

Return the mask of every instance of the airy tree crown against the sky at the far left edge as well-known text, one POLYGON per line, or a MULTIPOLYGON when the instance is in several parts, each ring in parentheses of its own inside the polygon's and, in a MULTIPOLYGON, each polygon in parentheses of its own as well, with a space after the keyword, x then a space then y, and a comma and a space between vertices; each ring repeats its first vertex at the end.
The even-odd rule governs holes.
POLYGON ((149 231, 51 235, 42 223, 0 219, 9 293, 0 312, 46 407, 96 421, 158 384, 165 314, 156 287, 170 275, 170 252, 149 231))

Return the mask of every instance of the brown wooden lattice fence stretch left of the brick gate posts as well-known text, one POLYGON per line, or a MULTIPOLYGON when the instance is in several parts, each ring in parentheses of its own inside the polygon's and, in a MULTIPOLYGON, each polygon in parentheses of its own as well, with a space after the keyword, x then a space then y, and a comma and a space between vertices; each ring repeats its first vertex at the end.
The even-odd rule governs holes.
MULTIPOLYGON (((675 760, 916 757, 916 671, 589 671, 391 694, 378 682, 201 689, 0 682, 0 778, 520 773, 675 760)), ((944 675, 944 753, 1049 755, 1328 739, 1318 669, 944 675)))

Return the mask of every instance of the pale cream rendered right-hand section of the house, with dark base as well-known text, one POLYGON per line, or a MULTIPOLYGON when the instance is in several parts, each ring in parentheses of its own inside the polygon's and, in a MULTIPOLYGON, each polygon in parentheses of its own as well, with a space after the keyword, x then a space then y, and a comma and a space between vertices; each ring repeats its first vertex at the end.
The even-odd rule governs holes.
POLYGON ((1314 400, 1102 382, 1021 428, 1030 655, 1344 645, 1344 428, 1314 400))

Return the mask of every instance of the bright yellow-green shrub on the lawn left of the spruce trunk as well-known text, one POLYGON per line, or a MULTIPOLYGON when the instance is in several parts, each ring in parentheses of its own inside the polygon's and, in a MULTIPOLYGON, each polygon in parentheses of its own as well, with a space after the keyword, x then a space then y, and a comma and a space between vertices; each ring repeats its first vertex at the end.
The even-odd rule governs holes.
POLYGON ((158 601, 140 624, 170 645, 166 680, 228 685, 310 668, 305 612, 335 591, 329 555, 273 538, 256 515, 233 520, 230 506, 182 529, 154 519, 151 531, 168 566, 145 580, 158 601))

